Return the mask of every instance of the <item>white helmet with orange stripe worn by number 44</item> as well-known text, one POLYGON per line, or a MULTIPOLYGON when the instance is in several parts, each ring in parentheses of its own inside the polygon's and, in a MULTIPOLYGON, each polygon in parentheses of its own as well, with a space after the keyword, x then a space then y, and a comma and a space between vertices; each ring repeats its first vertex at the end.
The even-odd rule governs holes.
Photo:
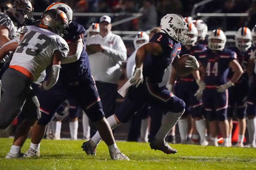
POLYGON ((227 37, 222 30, 213 30, 208 37, 208 48, 211 50, 223 50, 226 42, 227 37), (220 42, 212 42, 213 39, 219 39, 220 42))

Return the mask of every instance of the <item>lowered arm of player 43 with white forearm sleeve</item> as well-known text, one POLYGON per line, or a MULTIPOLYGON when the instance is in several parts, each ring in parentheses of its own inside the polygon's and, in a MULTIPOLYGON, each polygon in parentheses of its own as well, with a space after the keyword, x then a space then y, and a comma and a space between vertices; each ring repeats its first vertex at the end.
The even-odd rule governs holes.
POLYGON ((54 86, 58 81, 60 73, 60 60, 61 53, 58 50, 55 50, 52 56, 52 69, 50 71, 50 76, 46 81, 42 82, 42 85, 39 86, 40 89, 48 90, 54 86))

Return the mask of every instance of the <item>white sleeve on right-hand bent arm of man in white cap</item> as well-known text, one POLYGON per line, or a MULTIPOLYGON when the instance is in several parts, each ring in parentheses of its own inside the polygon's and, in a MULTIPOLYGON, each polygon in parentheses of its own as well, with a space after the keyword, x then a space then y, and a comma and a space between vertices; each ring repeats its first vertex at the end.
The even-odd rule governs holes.
POLYGON ((116 44, 114 46, 114 48, 110 48, 107 46, 103 46, 104 48, 104 54, 108 55, 109 57, 111 57, 113 60, 115 61, 124 61, 127 59, 127 55, 126 55, 126 47, 124 45, 123 40, 121 39, 121 37, 118 37, 116 44))

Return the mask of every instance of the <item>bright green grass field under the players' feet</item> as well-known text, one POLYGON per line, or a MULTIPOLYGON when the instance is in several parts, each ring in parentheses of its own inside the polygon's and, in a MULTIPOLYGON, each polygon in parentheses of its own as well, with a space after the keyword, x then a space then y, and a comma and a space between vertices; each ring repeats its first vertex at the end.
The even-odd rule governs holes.
MULTIPOLYGON (((256 149, 198 145, 172 145, 178 153, 166 155, 147 143, 117 142, 130 161, 113 161, 104 142, 97 156, 82 151, 83 141, 43 140, 38 159, 4 159, 13 139, 0 138, 0 169, 256 169, 256 149)), ((22 148, 25 152, 29 140, 22 148)))

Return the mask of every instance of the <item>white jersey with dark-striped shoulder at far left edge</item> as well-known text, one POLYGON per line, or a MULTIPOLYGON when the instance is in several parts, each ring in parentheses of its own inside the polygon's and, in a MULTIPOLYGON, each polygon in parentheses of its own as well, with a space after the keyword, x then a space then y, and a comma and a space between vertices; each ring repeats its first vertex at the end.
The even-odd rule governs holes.
POLYGON ((13 24, 12 20, 8 15, 0 12, 0 25, 5 26, 9 30, 9 39, 13 39, 18 32, 17 27, 13 24))

